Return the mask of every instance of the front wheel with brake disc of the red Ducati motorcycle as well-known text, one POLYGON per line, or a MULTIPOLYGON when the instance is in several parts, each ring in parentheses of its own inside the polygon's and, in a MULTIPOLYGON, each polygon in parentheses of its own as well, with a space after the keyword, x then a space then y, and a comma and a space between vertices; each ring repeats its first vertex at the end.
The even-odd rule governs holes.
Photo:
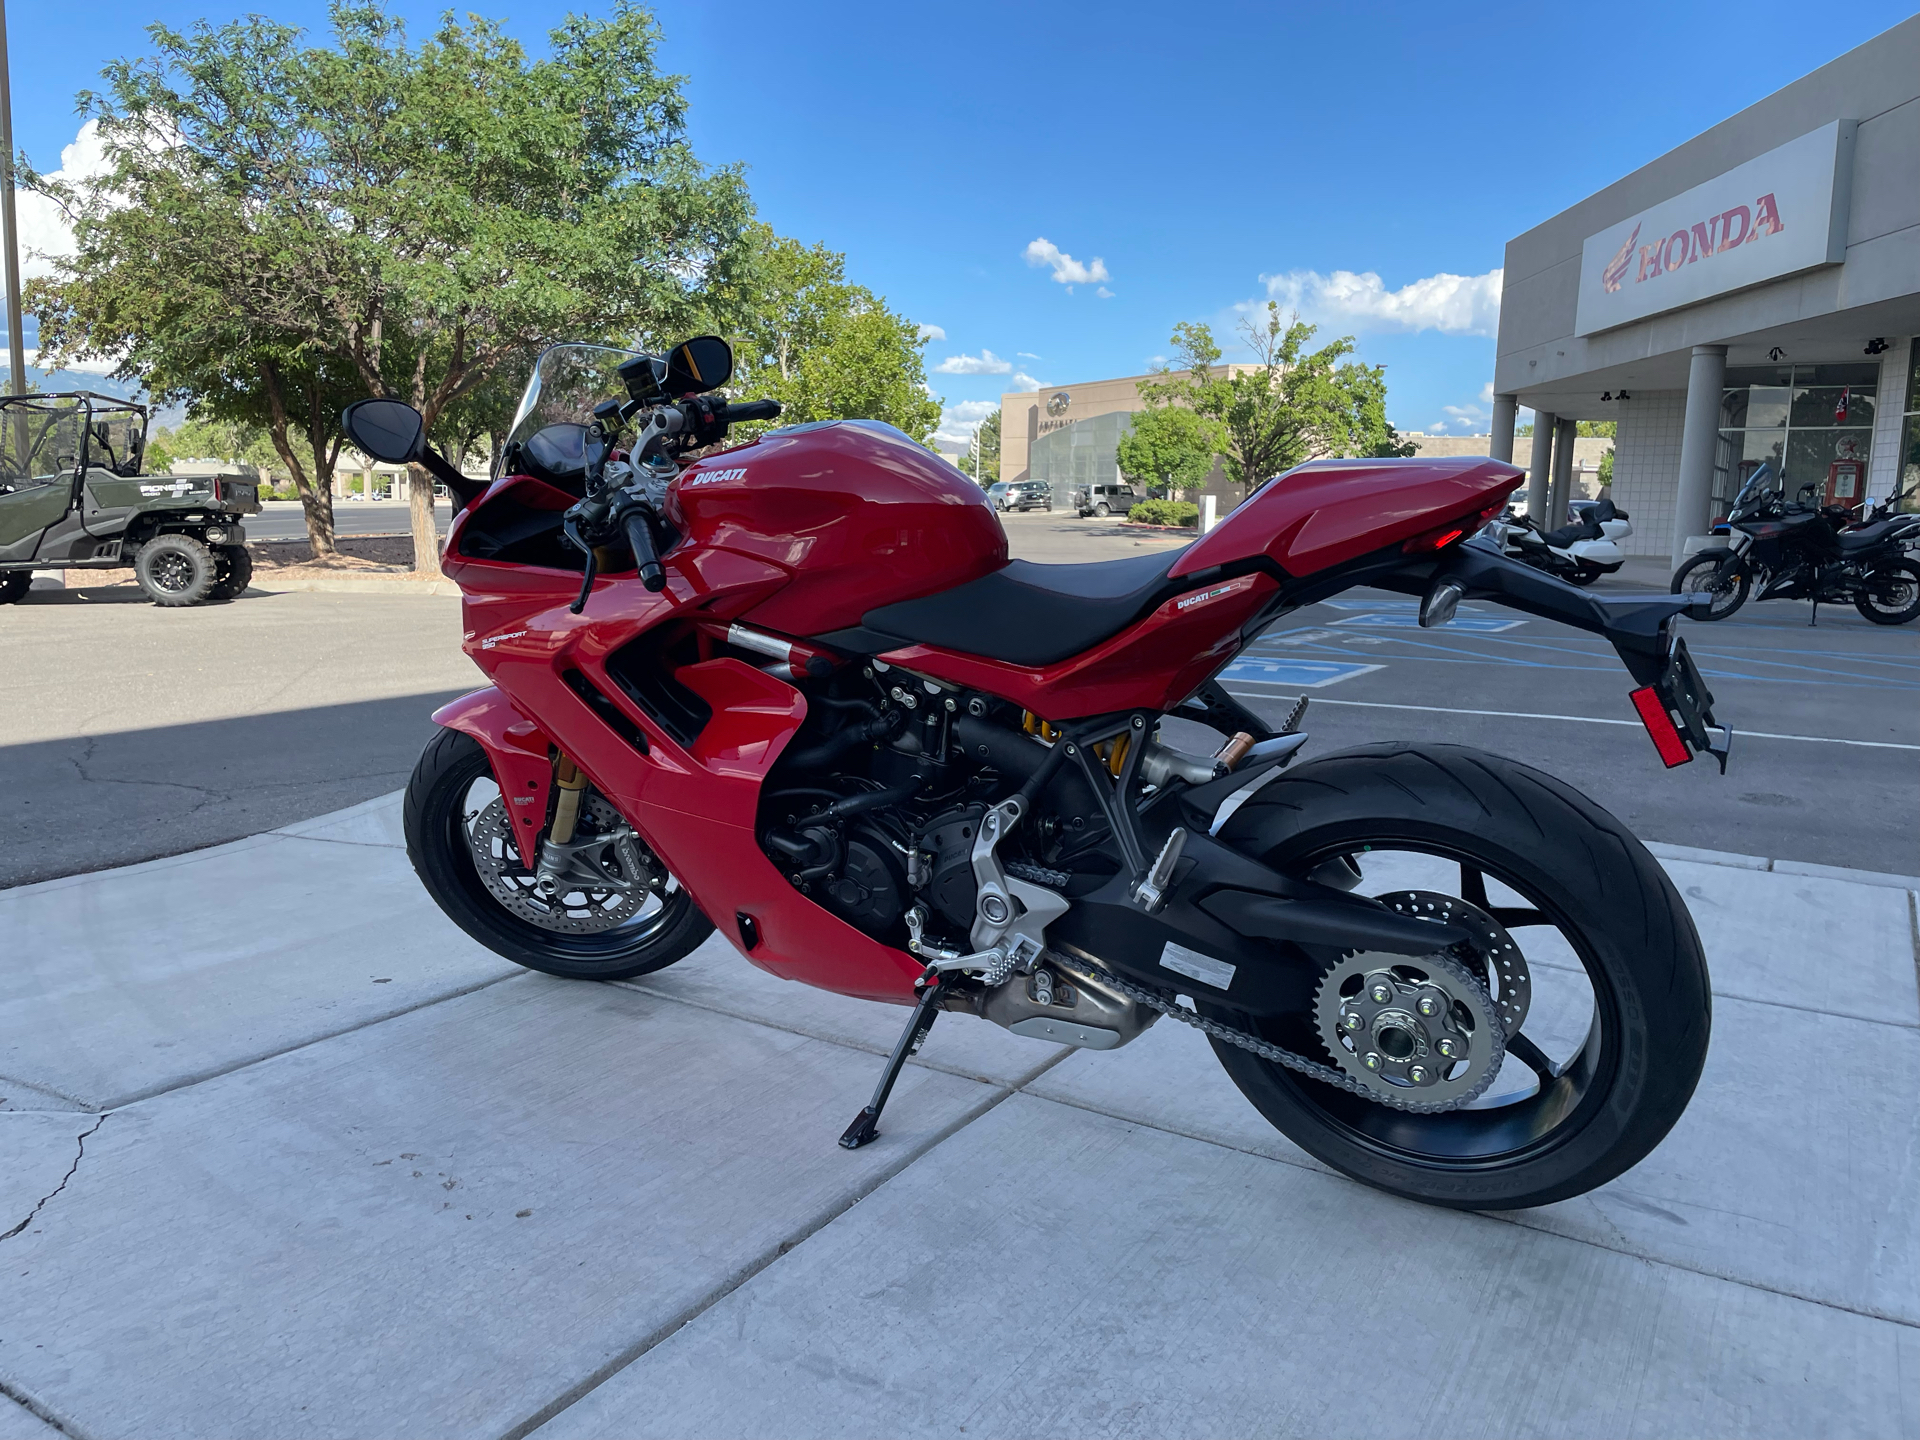
POLYGON ((513 845, 486 751, 457 730, 442 730, 420 753, 403 820, 407 858, 434 902, 484 947, 528 970, 632 979, 685 958, 712 935, 693 897, 593 791, 580 824, 588 835, 597 829, 609 837, 620 874, 566 879, 543 895, 513 845))

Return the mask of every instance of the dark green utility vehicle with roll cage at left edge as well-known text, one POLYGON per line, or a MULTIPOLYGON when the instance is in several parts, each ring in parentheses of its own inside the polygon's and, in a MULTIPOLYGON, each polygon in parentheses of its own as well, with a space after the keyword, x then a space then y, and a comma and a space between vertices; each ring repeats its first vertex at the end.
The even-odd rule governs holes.
POLYGON ((259 488, 140 474, 146 405, 86 390, 0 396, 0 605, 35 570, 132 566, 156 605, 232 599, 253 576, 240 516, 259 488))

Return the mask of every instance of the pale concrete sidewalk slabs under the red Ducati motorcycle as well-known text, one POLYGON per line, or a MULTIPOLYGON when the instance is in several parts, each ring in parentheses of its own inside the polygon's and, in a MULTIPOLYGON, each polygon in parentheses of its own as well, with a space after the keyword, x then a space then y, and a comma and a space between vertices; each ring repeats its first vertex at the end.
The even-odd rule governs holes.
POLYGON ((530 975, 397 797, 0 891, 0 1440, 1920 1436, 1916 897, 1667 856, 1715 1044, 1509 1215, 1327 1173, 1158 1025, 902 1014, 720 941, 530 975), (17 1229, 15 1229, 17 1227, 17 1229))

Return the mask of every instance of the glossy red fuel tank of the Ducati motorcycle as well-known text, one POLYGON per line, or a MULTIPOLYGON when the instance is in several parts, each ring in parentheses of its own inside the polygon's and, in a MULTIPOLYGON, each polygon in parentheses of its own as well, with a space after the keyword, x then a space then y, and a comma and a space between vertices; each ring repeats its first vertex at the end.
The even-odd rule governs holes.
POLYGON ((668 518, 693 545, 787 570, 743 616, 787 636, 847 630, 1006 564, 987 493, 876 420, 797 424, 705 455, 674 480, 668 518))

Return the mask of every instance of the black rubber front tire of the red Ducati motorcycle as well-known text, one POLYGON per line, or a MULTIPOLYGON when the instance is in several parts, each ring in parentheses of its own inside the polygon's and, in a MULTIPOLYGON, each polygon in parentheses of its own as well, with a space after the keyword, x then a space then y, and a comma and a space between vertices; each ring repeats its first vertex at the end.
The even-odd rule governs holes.
POLYGON ((480 879, 468 839, 468 791, 492 780, 480 741, 442 730, 413 768, 401 818, 407 858, 426 893, 493 954, 564 979, 632 979, 685 958, 712 935, 712 922, 678 885, 651 914, 597 933, 561 933, 509 910, 480 879))

